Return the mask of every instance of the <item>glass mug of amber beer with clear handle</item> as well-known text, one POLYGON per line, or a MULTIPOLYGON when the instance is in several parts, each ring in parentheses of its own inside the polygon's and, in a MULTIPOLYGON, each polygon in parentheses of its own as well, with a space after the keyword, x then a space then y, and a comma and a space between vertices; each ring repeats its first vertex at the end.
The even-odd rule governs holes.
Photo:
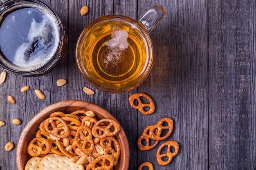
POLYGON ((88 24, 76 44, 76 63, 87 82, 107 93, 124 93, 139 86, 153 65, 148 33, 164 15, 164 8, 155 5, 139 22, 106 15, 88 24))

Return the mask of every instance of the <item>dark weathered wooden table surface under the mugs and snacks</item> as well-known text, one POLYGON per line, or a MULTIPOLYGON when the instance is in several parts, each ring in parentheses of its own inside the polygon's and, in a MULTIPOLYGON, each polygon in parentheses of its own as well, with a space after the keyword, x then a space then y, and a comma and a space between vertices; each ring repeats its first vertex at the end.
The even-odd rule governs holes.
MULTIPOLYGON (((124 128, 130 145, 129 170, 150 161, 155 170, 255 170, 256 169, 256 2, 255 0, 43 0, 61 17, 68 32, 68 53, 56 68, 39 77, 7 72, 0 84, 1 170, 16 169, 16 143, 22 128, 38 111, 67 99, 97 104, 110 112, 124 128), (92 20, 108 14, 139 20, 155 4, 166 15, 150 33, 154 65, 135 90, 109 94, 92 88, 75 61, 76 40, 92 20), (89 13, 81 16, 83 5, 89 13), (57 79, 67 79, 56 86, 57 79), (22 86, 31 89, 20 92, 22 86), (92 88, 87 95, 83 87, 92 88), (34 89, 46 96, 38 99, 34 89), (146 93, 155 102, 155 113, 142 115, 128 103, 134 93, 146 93), (12 95, 16 104, 7 101, 12 95), (137 148, 137 139, 148 125, 170 117, 178 154, 159 166, 156 151, 137 148), (11 121, 18 118, 20 125, 11 121), (4 145, 12 141, 10 152, 4 145)), ((0 71, 4 69, 0 68, 0 71)))

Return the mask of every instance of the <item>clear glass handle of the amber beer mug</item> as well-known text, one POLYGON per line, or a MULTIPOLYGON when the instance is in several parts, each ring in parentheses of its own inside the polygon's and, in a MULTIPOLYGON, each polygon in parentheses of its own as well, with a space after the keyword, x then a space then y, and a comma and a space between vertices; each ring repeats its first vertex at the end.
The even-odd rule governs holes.
POLYGON ((165 9, 160 5, 155 5, 143 15, 139 22, 144 25, 148 33, 150 33, 160 20, 162 20, 164 15, 165 9))

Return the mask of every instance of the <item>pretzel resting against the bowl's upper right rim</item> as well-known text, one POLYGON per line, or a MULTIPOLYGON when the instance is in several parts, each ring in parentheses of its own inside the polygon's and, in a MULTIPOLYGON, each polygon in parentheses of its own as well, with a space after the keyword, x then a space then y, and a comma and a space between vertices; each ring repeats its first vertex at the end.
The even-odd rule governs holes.
POLYGON ((105 138, 107 136, 114 136, 116 135, 120 130, 120 124, 113 120, 113 119, 101 119, 97 121, 96 124, 92 127, 92 135, 94 137, 97 137, 99 139, 105 138), (109 123, 106 127, 101 127, 100 124, 102 122, 109 123), (114 130, 111 130, 111 128, 114 128, 114 130), (100 132, 103 132, 102 135, 100 135, 100 132))

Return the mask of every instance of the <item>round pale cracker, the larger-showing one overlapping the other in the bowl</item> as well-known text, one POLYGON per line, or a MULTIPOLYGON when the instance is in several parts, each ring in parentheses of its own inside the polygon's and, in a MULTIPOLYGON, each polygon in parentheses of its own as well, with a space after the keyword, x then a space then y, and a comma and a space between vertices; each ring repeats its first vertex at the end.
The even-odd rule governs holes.
POLYGON ((56 154, 46 155, 39 164, 39 170, 84 170, 83 165, 70 161, 67 156, 56 154))

